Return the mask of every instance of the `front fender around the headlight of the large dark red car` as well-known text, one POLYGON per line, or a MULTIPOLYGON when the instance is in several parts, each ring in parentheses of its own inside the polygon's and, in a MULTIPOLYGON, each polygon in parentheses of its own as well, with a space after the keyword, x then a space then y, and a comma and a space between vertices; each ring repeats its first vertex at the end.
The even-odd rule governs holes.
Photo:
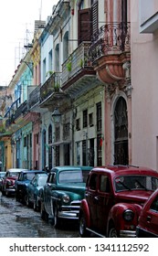
POLYGON ((114 223, 114 226, 118 231, 124 229, 125 227, 127 227, 127 225, 133 225, 134 227, 136 227, 141 209, 142 206, 137 204, 119 203, 114 205, 109 213, 107 233, 110 228, 111 222, 114 223), (126 221, 125 219, 123 219, 123 212, 127 209, 131 209, 134 213, 132 221, 126 221))

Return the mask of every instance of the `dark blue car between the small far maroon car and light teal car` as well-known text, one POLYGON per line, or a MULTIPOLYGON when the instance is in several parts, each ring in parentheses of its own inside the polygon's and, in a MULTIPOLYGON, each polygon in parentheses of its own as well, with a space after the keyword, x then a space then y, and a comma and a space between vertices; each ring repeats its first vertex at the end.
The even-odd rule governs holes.
POLYGON ((42 170, 24 170, 20 172, 15 182, 16 201, 26 204, 26 187, 35 174, 45 173, 42 170))

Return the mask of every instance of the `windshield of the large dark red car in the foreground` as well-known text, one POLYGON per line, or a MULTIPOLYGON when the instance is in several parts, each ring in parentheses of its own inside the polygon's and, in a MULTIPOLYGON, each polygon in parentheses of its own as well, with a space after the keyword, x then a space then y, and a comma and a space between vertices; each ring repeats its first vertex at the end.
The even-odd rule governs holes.
POLYGON ((155 190, 158 188, 158 178, 154 176, 117 176, 114 180, 116 192, 123 190, 155 190))

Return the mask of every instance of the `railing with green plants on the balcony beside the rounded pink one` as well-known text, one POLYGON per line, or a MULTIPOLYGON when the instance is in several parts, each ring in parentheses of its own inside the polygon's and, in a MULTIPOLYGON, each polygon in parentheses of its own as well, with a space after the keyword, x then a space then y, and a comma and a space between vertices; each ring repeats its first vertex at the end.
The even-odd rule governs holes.
POLYGON ((90 42, 82 42, 62 65, 62 84, 77 75, 82 69, 91 69, 88 58, 90 42))

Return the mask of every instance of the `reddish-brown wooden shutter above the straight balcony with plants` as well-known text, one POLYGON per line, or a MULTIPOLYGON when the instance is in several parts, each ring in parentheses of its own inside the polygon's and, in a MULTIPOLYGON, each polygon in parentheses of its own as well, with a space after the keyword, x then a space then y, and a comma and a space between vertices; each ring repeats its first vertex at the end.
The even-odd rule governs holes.
POLYGON ((91 10, 82 9, 78 12, 78 41, 91 41, 91 10))

